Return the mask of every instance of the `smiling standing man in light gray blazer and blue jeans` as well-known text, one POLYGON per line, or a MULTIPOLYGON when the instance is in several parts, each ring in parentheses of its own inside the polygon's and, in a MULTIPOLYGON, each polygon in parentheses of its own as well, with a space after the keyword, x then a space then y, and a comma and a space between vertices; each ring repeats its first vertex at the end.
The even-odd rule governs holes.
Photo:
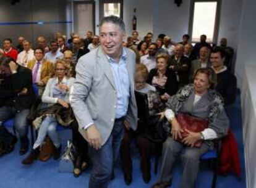
POLYGON ((89 187, 108 187, 125 127, 137 128, 135 54, 122 47, 125 25, 109 16, 100 23, 101 46, 77 66, 71 105, 89 147, 93 170, 89 187))

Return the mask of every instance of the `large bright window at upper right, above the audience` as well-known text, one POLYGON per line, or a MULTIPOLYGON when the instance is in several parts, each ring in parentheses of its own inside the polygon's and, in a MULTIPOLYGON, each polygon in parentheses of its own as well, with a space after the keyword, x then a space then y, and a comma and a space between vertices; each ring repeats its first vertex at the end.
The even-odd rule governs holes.
POLYGON ((189 33, 192 43, 200 41, 200 35, 207 36, 208 43, 216 43, 220 20, 220 0, 193 0, 190 11, 189 33))

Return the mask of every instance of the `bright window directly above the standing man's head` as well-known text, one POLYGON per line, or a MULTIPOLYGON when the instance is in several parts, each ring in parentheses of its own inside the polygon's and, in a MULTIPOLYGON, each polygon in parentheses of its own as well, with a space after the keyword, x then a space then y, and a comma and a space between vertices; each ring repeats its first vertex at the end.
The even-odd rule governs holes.
POLYGON ((100 20, 108 15, 122 18, 122 0, 100 0, 100 20))

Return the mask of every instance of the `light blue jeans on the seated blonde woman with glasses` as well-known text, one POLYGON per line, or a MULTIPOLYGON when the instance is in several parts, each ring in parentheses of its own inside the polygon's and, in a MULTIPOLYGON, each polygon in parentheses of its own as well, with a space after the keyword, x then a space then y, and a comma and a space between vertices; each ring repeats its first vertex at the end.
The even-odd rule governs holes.
POLYGON ((60 142, 59 136, 56 131, 57 125, 58 122, 56 118, 46 117, 41 123, 41 126, 38 131, 38 137, 35 141, 35 144, 33 145, 33 149, 36 149, 38 146, 43 144, 43 141, 45 140, 47 134, 51 138, 51 141, 53 141, 53 144, 58 148, 60 142))

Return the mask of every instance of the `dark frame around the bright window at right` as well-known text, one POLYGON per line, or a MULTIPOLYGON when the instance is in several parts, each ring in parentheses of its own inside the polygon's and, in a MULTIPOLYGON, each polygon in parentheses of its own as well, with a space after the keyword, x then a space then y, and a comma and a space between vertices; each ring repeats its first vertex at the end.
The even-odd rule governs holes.
MULTIPOLYGON (((189 17, 189 35, 191 36, 191 43, 198 43, 198 41, 192 41, 195 2, 217 2, 216 18, 215 18, 215 25, 214 25, 214 31, 213 31, 213 41, 209 42, 209 43, 210 44, 218 44, 218 34, 219 34, 219 28, 220 28, 220 14, 221 14, 221 0, 191 0, 190 17, 189 17)), ((205 33, 202 33, 202 35, 203 34, 205 34, 205 33)))

